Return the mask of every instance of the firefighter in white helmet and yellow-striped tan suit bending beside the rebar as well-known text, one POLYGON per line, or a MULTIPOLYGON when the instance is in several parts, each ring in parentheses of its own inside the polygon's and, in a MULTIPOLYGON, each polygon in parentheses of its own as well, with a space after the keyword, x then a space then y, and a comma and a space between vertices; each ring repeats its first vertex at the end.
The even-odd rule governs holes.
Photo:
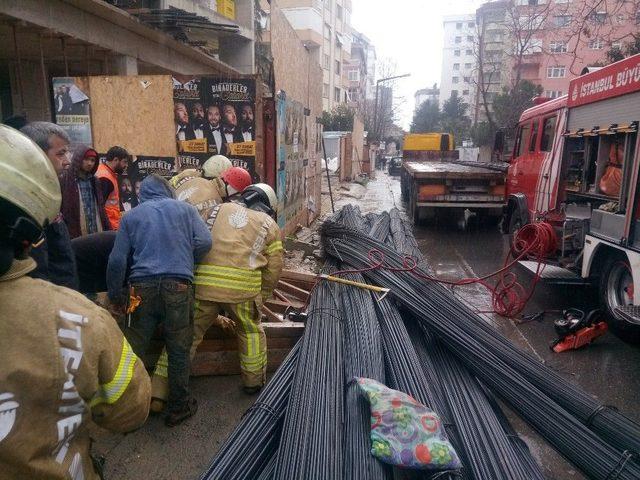
MULTIPOLYGON (((252 394, 265 382, 267 343, 260 309, 278 283, 283 250, 280 229, 272 218, 277 209, 273 189, 264 183, 250 185, 241 199, 241 203, 217 205, 206 219, 213 247, 196 265, 191 358, 218 314, 225 311, 238 335, 244 390, 252 394)), ((156 369, 152 377, 155 412, 162 410, 167 397, 162 373, 156 369)))

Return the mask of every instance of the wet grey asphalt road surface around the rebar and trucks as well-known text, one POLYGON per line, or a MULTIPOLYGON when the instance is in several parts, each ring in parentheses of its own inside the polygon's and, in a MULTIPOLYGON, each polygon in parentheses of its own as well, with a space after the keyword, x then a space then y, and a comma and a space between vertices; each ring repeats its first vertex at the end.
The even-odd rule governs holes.
MULTIPOLYGON (((400 186, 395 178, 377 172, 367 188, 353 186, 342 191, 336 208, 346 203, 360 205, 364 213, 402 208, 400 186)), ((323 195, 323 211, 328 200, 323 195)), ((415 229, 421 251, 438 275, 446 278, 485 275, 502 266, 507 242, 495 224, 471 221, 466 231, 455 219, 415 229)), ((521 275, 523 282, 526 275, 521 275)), ((490 294, 481 286, 467 286, 459 294, 475 308, 490 310, 490 294)), ((594 294, 583 288, 551 288, 539 285, 526 312, 568 307, 587 308, 594 294)), ((555 338, 553 314, 541 322, 516 325, 496 315, 485 315, 505 336, 533 352, 567 382, 584 388, 604 404, 615 405, 640 422, 640 348, 630 347, 611 334, 579 351, 555 354, 549 343, 555 338)), ((184 425, 168 429, 160 418, 151 418, 137 432, 127 436, 94 432, 97 450, 107 456, 107 478, 183 479, 199 478, 255 397, 243 394, 240 379, 232 377, 193 378, 191 386, 199 411, 184 425)), ((584 478, 555 453, 519 418, 509 414, 516 430, 531 448, 548 479, 584 478)), ((498 479, 496 479, 498 480, 498 479)))

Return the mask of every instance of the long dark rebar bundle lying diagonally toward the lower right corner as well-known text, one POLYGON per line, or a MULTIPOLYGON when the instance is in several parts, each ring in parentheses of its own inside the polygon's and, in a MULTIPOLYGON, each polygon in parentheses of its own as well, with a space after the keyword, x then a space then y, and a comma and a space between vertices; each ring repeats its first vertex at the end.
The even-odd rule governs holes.
MULTIPOLYGON (((428 331, 587 475, 640 478, 629 453, 640 446, 635 423, 602 409, 579 388, 518 350, 442 285, 403 272, 406 258, 395 250, 336 221, 325 222, 323 235, 329 254, 360 269, 372 283, 391 288, 394 298, 428 331), (373 251, 378 260, 384 256, 384 268, 372 267, 373 251)), ((423 270, 416 272, 427 276, 423 270)))

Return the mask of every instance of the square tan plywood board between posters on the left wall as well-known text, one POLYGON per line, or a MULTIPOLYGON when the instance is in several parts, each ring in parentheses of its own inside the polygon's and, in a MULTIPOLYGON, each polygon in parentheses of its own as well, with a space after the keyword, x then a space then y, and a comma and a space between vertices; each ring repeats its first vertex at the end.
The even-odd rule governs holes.
POLYGON ((170 75, 88 77, 93 147, 119 145, 133 155, 175 157, 170 75))

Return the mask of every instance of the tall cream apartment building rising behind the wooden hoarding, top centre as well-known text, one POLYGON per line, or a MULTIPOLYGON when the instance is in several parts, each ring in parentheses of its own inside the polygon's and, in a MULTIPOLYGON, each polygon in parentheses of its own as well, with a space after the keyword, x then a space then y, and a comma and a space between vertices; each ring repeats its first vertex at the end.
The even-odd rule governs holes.
POLYGON ((278 0, 291 26, 322 67, 326 111, 349 99, 345 64, 351 59, 351 0, 278 0))

